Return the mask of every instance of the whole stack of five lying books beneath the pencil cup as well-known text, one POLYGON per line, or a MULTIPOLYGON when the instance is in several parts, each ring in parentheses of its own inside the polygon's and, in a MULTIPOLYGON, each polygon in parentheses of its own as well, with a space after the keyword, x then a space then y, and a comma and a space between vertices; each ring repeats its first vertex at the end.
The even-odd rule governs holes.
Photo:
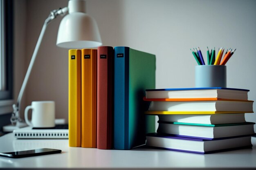
POLYGON ((156 148, 211 153, 252 147, 253 113, 248 91, 235 88, 148 89, 146 114, 158 115, 157 133, 146 135, 146 145, 156 148))

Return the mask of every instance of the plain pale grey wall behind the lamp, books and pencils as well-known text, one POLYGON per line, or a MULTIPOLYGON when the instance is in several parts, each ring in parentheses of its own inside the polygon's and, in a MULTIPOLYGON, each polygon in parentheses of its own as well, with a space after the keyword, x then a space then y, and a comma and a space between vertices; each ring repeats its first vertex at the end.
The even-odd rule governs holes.
MULTIPOLYGON (((156 87, 194 86, 196 62, 190 48, 237 49, 227 65, 227 86, 250 89, 256 101, 255 0, 87 0, 87 12, 98 23, 103 45, 130 46, 157 56, 156 87)), ((27 0, 26 62, 49 11, 67 0, 27 0)), ((26 105, 54 100, 56 117, 68 117, 67 49, 55 46, 58 24, 45 33, 29 79, 26 105)), ((254 104, 254 109, 255 109, 254 104)), ((256 122, 255 114, 247 121, 256 122)))

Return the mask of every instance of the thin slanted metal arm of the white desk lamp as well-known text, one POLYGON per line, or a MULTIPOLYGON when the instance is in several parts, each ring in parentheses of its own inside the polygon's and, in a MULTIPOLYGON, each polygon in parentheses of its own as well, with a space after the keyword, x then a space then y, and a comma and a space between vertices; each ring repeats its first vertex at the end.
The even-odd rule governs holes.
POLYGON ((20 93, 18 95, 17 102, 16 102, 16 104, 13 104, 13 113, 12 113, 12 116, 11 116, 11 124, 15 124, 15 123, 17 123, 17 121, 22 121, 20 119, 20 102, 21 102, 23 93, 25 91, 25 88, 27 86, 27 81, 29 79, 31 70, 32 70, 34 62, 36 60, 36 56, 37 56, 40 44, 41 44, 41 42, 43 40, 43 36, 45 34, 45 30, 47 28, 47 25, 52 20, 54 20, 58 15, 65 15, 67 12, 68 12, 68 7, 56 9, 54 11, 51 11, 50 15, 45 20, 45 23, 43 24, 43 28, 41 30, 41 33, 40 33, 39 38, 38 38, 37 43, 36 43, 36 47, 34 49, 34 53, 33 53, 32 57, 31 57, 31 60, 30 60, 30 63, 29 63, 29 67, 27 68, 27 73, 25 75, 25 78, 23 80, 22 86, 20 88, 20 93))

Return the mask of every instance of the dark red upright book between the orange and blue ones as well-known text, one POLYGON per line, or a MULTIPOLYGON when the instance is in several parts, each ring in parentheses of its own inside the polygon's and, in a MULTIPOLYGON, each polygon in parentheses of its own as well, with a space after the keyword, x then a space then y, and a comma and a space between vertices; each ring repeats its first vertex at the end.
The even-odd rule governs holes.
POLYGON ((114 49, 98 47, 97 54, 97 148, 113 147, 114 49))

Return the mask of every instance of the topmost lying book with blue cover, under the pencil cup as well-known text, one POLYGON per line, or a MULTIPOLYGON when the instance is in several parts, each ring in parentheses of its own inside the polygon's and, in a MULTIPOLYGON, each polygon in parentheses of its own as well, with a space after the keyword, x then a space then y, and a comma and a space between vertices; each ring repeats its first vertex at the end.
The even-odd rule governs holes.
POLYGON ((220 98, 247 100, 249 90, 238 88, 164 88, 147 89, 147 99, 220 98))

